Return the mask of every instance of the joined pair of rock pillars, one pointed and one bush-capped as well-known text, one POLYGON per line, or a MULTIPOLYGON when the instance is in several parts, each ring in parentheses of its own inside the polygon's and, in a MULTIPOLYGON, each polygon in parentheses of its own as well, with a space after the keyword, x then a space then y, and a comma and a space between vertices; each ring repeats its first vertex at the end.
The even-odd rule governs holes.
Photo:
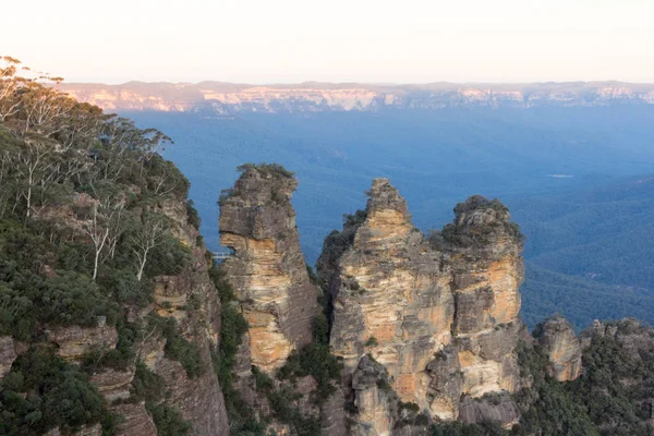
MULTIPOLYGON (((456 215, 427 240, 411 225, 398 191, 376 179, 350 246, 336 262, 323 255, 334 299, 330 346, 343 358, 346 396, 360 401, 355 380, 366 353, 388 372, 399 400, 431 419, 492 417, 461 414, 461 398, 519 387, 522 241, 498 202, 472 197, 456 215)), ((511 413, 499 415, 509 424, 517 409, 505 409, 511 413)), ((361 413, 353 416, 358 423, 372 416, 361 413)), ((379 420, 373 426, 386 428, 384 420, 393 417, 379 420)))

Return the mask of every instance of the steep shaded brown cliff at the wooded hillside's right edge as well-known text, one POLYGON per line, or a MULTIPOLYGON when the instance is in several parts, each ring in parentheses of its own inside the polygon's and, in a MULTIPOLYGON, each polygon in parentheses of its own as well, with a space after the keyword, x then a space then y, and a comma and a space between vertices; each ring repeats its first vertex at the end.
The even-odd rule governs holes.
MULTIPOLYGON (((166 356, 166 339, 159 332, 144 341, 141 356, 152 371, 162 377, 169 392, 167 401, 179 408, 183 419, 191 423, 191 434, 228 435, 222 391, 210 356, 211 350, 218 346, 220 302, 207 274, 206 249, 196 242, 198 231, 187 223, 183 202, 171 201, 160 207, 177 223, 175 237, 191 249, 192 263, 177 276, 158 278, 153 310, 161 316, 177 319, 181 335, 199 353, 199 375, 190 377, 180 362, 166 356), (196 302, 195 307, 192 301, 196 302)), ((133 420, 133 425, 130 421, 123 424, 125 434, 134 434, 133 428, 137 425, 152 428, 141 404, 136 404, 126 416, 133 420)))

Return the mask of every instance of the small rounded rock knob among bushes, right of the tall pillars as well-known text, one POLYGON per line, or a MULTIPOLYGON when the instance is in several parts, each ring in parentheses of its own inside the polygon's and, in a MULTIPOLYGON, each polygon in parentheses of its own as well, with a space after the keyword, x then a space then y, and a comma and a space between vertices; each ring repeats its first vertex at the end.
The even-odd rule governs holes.
POLYGON ((581 374, 581 343, 566 318, 555 315, 534 330, 537 346, 549 359, 549 375, 570 382, 581 374))

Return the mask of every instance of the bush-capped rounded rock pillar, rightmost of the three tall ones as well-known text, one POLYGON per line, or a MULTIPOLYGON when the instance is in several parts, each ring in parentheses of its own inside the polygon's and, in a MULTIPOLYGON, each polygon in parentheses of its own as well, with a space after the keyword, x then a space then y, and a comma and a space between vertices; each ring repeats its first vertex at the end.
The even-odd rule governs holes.
POLYGON ((452 267, 462 392, 473 398, 512 392, 519 378, 513 350, 521 328, 521 235, 498 201, 473 196, 455 214, 435 242, 452 267))

